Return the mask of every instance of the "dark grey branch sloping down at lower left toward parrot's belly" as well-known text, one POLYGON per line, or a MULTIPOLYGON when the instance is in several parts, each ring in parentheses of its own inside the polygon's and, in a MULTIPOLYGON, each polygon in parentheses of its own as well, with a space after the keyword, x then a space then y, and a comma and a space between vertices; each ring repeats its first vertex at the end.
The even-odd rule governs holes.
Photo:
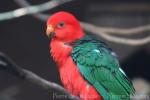
POLYGON ((6 56, 2 52, 0 52, 0 70, 9 72, 21 79, 25 79, 33 84, 39 85, 46 90, 54 89, 56 91, 59 91, 65 94, 69 99, 79 100, 79 97, 71 95, 62 86, 54 82, 47 81, 31 71, 17 66, 8 56, 6 56))

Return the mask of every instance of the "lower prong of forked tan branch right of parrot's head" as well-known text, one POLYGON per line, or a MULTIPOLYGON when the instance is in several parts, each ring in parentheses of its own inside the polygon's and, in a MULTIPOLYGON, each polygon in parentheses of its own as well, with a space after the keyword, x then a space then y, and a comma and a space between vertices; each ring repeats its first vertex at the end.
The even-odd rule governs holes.
MULTIPOLYGON (((103 28, 100 28, 93 24, 81 22, 81 25, 86 31, 91 32, 99 37, 102 37, 110 42, 132 45, 132 46, 139 46, 139 45, 144 45, 144 44, 150 43, 150 36, 142 38, 142 39, 128 39, 128 38, 123 38, 123 37, 112 36, 112 35, 108 34, 109 33, 108 31, 110 31, 110 30, 108 30, 106 32, 106 29, 103 30, 103 28)), ((135 28, 133 30, 136 30, 136 29, 137 28, 135 28)), ((133 30, 131 30, 131 31, 134 33, 133 30)), ((119 31, 121 31, 121 29, 119 31)), ((131 31, 129 31, 129 32, 131 32, 131 31)))

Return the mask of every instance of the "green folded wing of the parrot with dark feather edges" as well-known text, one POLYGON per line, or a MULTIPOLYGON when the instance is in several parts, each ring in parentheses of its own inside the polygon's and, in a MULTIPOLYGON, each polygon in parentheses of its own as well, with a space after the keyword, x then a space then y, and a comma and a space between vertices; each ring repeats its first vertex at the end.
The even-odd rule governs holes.
POLYGON ((72 58, 80 73, 105 100, 128 100, 134 94, 132 83, 103 42, 85 36, 76 41, 72 58))

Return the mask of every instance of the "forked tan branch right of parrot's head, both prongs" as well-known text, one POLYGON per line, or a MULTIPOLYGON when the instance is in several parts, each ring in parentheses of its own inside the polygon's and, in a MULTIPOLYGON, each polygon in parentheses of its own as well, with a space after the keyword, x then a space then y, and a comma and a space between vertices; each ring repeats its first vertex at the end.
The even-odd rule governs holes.
POLYGON ((138 31, 144 31, 145 29, 150 30, 150 25, 148 25, 147 27, 141 26, 138 28, 133 28, 133 29, 130 29, 129 31, 127 31, 127 29, 124 29, 122 33, 119 33, 121 32, 122 29, 101 28, 101 27, 95 26, 93 24, 85 23, 85 22, 81 22, 81 25, 86 31, 91 32, 99 37, 102 37, 110 42, 126 44, 126 45, 131 45, 131 46, 139 46, 139 45, 150 43, 150 36, 142 38, 142 39, 129 39, 129 38, 123 38, 123 37, 110 35, 110 33, 115 34, 115 32, 116 33, 118 32, 118 34, 122 34, 122 35, 137 34, 136 32, 138 31))

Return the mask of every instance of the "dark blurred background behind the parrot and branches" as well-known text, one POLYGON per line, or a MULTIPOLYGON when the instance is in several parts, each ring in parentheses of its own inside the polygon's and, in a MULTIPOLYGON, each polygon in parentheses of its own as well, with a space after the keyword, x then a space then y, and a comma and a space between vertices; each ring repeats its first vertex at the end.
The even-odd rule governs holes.
MULTIPOLYGON (((28 0, 31 4, 47 0, 28 0)), ((20 8, 13 0, 1 0, 0 12, 20 8)), ((100 26, 130 28, 150 23, 148 1, 74 0, 44 13, 65 10, 79 20, 100 26), (137 6, 139 9, 133 9, 137 6)), ((30 15, 0 22, 0 51, 10 56, 22 68, 61 84, 57 67, 49 54, 49 40, 45 36, 46 22, 30 15)), ((148 36, 149 33, 140 35, 148 36)), ((105 40, 103 40, 105 41, 105 40)), ((122 68, 133 79, 150 80, 150 45, 128 46, 105 41, 117 53, 122 68)), ((27 81, 0 71, 0 91, 17 86, 20 92, 15 100, 50 100, 52 91, 46 91, 27 81)), ((1 100, 1 99, 0 99, 1 100)), ((2 99, 3 100, 3 99, 2 99)), ((9 99, 8 99, 9 100, 9 99)))

